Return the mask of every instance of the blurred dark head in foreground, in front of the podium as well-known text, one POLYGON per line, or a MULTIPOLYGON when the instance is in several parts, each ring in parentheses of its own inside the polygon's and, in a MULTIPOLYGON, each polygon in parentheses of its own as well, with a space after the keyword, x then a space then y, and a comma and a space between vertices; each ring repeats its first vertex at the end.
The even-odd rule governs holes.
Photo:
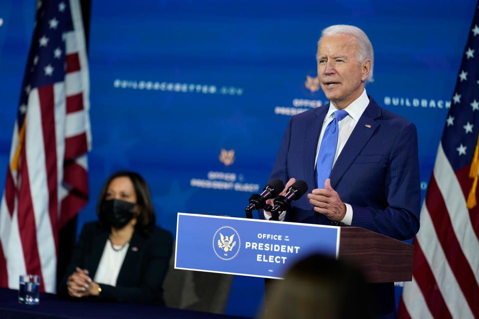
POLYGON ((343 261, 312 255, 272 285, 262 318, 371 318, 370 304, 359 270, 343 261))

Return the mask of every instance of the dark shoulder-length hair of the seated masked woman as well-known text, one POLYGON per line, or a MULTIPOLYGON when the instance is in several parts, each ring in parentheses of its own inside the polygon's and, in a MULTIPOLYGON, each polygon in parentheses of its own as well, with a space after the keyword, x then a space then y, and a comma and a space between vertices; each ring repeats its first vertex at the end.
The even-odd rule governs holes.
POLYGON ((149 236, 155 227, 155 212, 153 210, 153 203, 151 201, 150 189, 140 174, 128 170, 119 170, 113 173, 103 184, 96 207, 96 212, 101 225, 110 230, 111 226, 108 223, 106 216, 104 216, 104 213, 101 211, 101 204, 105 200, 108 186, 110 185, 111 181, 117 177, 128 177, 133 183, 133 188, 135 189, 136 194, 136 204, 139 208, 139 214, 136 217, 137 222, 135 225, 135 230, 142 235, 149 236))

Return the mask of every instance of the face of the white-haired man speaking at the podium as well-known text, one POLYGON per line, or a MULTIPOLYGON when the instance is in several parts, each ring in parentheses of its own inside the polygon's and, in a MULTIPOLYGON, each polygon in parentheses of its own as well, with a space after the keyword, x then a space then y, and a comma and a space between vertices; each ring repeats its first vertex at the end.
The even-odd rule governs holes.
POLYGON ((344 109, 364 90, 371 61, 360 63, 356 39, 347 34, 324 36, 318 44, 318 79, 326 98, 344 109))

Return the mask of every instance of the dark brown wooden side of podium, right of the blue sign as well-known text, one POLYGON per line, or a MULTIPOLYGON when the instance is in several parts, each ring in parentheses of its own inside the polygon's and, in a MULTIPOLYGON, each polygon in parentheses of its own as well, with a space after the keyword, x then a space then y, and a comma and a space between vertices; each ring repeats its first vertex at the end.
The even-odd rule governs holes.
POLYGON ((339 258, 369 283, 411 281, 414 246, 360 227, 341 227, 339 258))

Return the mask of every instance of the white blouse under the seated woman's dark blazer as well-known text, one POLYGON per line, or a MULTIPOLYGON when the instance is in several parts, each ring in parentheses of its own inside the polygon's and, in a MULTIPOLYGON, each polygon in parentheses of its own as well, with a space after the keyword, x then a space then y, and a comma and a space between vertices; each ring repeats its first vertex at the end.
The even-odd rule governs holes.
POLYGON ((130 243, 126 243, 124 247, 115 246, 115 249, 121 249, 120 251, 115 251, 111 247, 110 240, 107 239, 105 243, 105 248, 103 249, 103 255, 101 255, 100 263, 98 264, 98 269, 96 270, 94 282, 99 284, 116 286, 116 281, 118 279, 118 274, 120 273, 121 266, 125 260, 126 252, 130 243))

